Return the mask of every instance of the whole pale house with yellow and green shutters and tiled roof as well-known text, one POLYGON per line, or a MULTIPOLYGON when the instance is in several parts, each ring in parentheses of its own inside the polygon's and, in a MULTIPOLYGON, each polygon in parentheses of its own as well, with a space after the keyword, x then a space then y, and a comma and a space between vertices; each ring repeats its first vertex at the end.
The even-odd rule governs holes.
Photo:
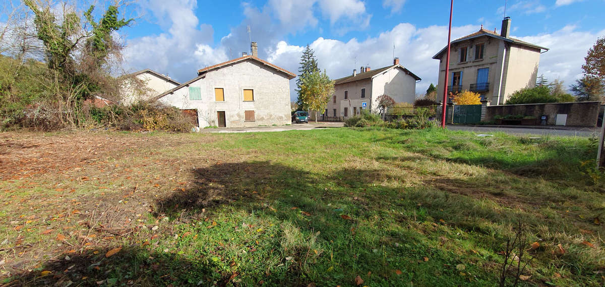
POLYGON ((197 77, 155 97, 197 117, 203 127, 255 127, 291 122, 290 80, 283 68, 252 54, 198 70, 197 77))

